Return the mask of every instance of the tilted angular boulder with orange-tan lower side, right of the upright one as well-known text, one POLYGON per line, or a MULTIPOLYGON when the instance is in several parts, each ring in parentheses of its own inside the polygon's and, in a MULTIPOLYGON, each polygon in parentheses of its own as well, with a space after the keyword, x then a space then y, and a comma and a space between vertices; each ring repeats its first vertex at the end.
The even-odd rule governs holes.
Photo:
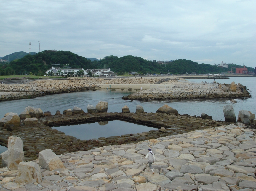
POLYGON ((39 152, 39 165, 46 170, 52 171, 57 168, 65 168, 60 158, 51 149, 39 152))

